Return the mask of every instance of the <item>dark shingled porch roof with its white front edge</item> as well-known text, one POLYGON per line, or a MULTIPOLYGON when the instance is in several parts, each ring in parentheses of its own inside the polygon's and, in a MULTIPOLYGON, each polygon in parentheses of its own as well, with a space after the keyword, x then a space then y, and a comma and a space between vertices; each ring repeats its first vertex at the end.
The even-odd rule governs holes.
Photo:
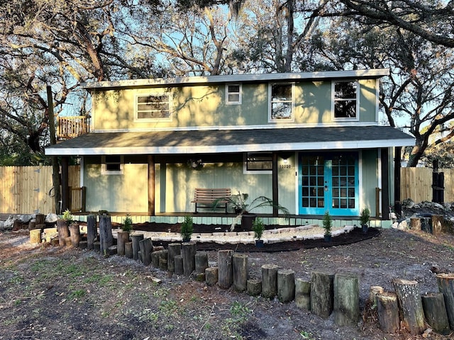
POLYGON ((232 152, 370 149, 414 145, 389 126, 99 132, 46 147, 49 156, 101 154, 217 154, 232 152))

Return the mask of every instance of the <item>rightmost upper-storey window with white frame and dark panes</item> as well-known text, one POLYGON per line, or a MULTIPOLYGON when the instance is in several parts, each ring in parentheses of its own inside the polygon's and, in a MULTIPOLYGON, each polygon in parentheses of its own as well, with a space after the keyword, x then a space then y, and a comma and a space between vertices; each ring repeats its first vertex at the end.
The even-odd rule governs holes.
POLYGON ((333 81, 331 89, 333 93, 333 119, 358 120, 358 81, 333 81))

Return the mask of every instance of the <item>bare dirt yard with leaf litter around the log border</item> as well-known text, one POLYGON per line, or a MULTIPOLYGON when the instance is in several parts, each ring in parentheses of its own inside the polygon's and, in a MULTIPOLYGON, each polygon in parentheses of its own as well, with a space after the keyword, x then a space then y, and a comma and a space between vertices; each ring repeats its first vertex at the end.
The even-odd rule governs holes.
MULTIPOLYGON (((394 278, 417 280, 421 294, 437 291, 433 271, 454 272, 453 234, 382 229, 352 244, 244 251, 251 278, 260 278, 263 264, 306 280, 313 271, 357 273, 358 325, 337 327, 333 314, 321 319, 295 302, 168 277, 123 256, 31 245, 28 231, 18 230, 0 234, 0 339, 454 339, 431 331, 384 334, 365 307, 370 286, 392 291, 394 278)), ((208 254, 214 266, 217 253, 208 254)))

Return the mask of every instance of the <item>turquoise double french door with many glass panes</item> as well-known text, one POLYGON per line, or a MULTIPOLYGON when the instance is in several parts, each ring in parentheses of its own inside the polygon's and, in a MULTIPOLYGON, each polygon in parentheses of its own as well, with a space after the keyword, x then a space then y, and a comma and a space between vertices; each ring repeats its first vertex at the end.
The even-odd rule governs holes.
POLYGON ((358 154, 299 155, 299 214, 358 216, 358 154))

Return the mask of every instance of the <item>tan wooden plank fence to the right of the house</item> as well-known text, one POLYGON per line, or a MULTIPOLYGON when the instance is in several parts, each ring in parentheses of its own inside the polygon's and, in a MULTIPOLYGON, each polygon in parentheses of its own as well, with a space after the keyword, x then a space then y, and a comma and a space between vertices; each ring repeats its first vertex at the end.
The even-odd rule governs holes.
MULTIPOLYGON (((454 169, 439 169, 445 177, 444 201, 454 202, 454 169)), ((402 168, 400 171, 400 198, 414 202, 432 200, 431 168, 402 168)))

